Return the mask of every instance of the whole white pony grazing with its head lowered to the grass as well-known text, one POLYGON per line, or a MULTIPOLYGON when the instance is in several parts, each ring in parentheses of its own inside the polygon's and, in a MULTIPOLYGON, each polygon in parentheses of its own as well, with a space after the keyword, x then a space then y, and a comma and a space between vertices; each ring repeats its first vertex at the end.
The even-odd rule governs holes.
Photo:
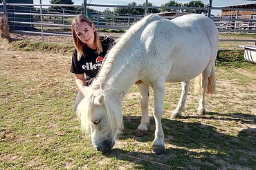
POLYGON ((142 118, 137 136, 147 134, 149 86, 154 89, 156 122, 152 152, 163 153, 161 124, 166 82, 182 82, 179 105, 172 118, 185 111, 190 79, 198 76, 201 99, 198 111, 205 113, 205 92, 214 94, 218 30, 202 14, 188 14, 172 21, 151 14, 134 24, 109 51, 88 94, 77 108, 82 130, 91 130, 93 146, 109 150, 122 129, 122 98, 137 83, 142 96, 142 118), (200 79, 201 78, 201 79, 200 79))

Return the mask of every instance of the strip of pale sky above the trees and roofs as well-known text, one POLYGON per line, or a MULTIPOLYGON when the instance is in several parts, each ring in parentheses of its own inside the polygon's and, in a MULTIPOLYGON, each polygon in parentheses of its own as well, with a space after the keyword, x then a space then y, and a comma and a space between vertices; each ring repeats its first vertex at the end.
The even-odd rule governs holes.
MULTIPOLYGON (((84 0, 73 0, 75 5, 81 5, 84 0)), ((87 0, 87 3, 91 4, 111 4, 111 5, 123 5, 126 6, 128 3, 131 3, 135 1, 137 5, 145 3, 145 0, 108 0, 102 1, 102 0, 87 0)), ((170 1, 170 0, 169 0, 170 1)), ((169 2, 168 0, 148 0, 148 2, 153 3, 153 6, 161 6, 164 3, 169 2)), ((184 1, 184 0, 174 0, 178 3, 188 3, 190 1, 184 1)), ((203 3, 208 4, 209 0, 201 0, 203 3)), ((39 0, 34 0, 35 4, 39 4, 39 0)), ((212 6, 214 7, 224 7, 224 6, 236 6, 236 5, 243 5, 243 4, 249 4, 249 3, 256 3, 256 1, 246 1, 246 0, 212 0, 212 6)), ((50 4, 50 0, 42 0, 42 4, 50 4)), ((103 11, 106 8, 95 8, 95 10, 103 11)), ((113 10, 113 9, 110 9, 113 10)), ((212 14, 221 14, 220 10, 212 10, 212 14)))

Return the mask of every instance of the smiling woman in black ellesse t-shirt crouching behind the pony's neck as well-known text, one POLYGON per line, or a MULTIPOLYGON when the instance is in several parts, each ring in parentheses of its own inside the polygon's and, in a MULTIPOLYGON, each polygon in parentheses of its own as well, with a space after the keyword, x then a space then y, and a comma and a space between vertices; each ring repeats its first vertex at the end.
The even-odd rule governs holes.
POLYGON ((100 38, 93 23, 79 14, 73 19, 71 32, 75 48, 73 50, 71 72, 75 74, 75 84, 79 92, 75 99, 75 109, 84 98, 84 86, 88 86, 98 74, 104 56, 113 45, 110 38, 100 38))

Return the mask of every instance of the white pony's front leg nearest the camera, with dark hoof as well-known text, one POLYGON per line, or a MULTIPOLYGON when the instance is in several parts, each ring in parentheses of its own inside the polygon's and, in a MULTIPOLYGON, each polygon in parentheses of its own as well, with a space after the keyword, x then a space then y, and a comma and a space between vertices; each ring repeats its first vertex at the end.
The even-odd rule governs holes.
POLYGON ((154 119, 156 123, 152 153, 161 154, 165 150, 163 127, 161 123, 163 117, 163 98, 165 95, 165 78, 158 78, 152 87, 154 89, 154 119))

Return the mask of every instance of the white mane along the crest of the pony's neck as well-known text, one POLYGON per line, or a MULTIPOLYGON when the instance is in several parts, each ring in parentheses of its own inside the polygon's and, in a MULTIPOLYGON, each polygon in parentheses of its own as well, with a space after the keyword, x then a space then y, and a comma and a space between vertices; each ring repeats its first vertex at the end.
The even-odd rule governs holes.
POLYGON ((147 17, 132 25, 131 28, 129 28, 129 30, 127 30, 127 32, 125 32, 125 34, 123 34, 116 41, 116 45, 113 45, 105 57, 104 64, 98 73, 98 77, 93 81, 91 89, 100 89, 100 86, 106 83, 106 75, 111 71, 113 62, 119 56, 118 53, 120 53, 122 48, 127 44, 128 41, 132 39, 133 36, 136 36, 136 33, 139 30, 143 30, 149 22, 156 21, 158 19, 161 19, 161 17, 157 16, 156 14, 148 15, 147 17))

